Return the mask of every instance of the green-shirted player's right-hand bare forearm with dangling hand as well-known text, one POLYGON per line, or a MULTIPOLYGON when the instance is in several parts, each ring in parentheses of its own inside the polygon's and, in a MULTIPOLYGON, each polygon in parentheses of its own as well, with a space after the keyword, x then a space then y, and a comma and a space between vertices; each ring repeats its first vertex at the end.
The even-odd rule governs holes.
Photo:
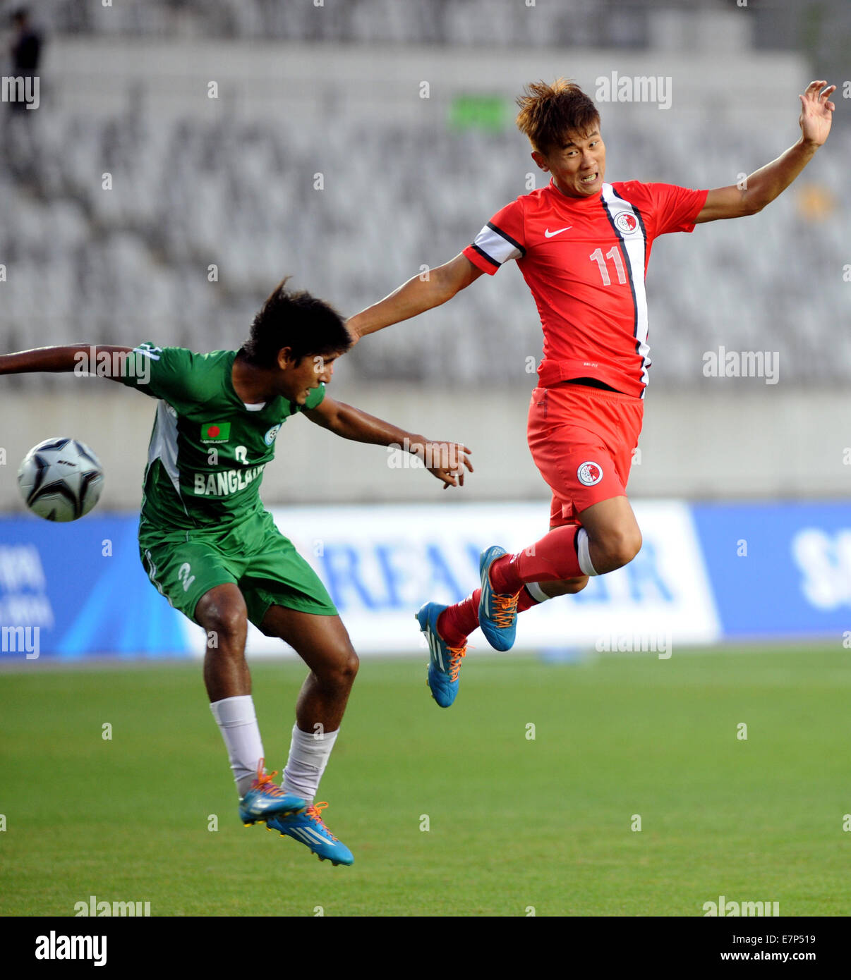
POLYGON ((426 439, 327 396, 317 408, 306 410, 304 415, 344 439, 392 446, 418 456, 425 462, 425 468, 443 481, 444 490, 450 486, 464 486, 465 466, 473 472, 470 450, 461 443, 426 439))

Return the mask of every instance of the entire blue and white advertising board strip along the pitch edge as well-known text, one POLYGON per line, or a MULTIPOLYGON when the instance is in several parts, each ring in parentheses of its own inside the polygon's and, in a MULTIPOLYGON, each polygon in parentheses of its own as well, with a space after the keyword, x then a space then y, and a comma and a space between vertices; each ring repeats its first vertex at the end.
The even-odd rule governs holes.
MULTIPOLYGON (((524 613, 519 650, 851 636, 851 504, 638 501, 634 509, 644 536, 636 560, 524 613)), ((273 515, 324 579, 359 653, 427 656, 413 612, 428 599, 468 594, 478 549, 526 547, 545 530, 542 513, 533 504, 487 504, 273 515)), ((139 562, 137 519, 0 517, 0 660, 203 656, 203 630, 169 605, 139 562)), ((249 654, 286 649, 250 628, 249 654)))

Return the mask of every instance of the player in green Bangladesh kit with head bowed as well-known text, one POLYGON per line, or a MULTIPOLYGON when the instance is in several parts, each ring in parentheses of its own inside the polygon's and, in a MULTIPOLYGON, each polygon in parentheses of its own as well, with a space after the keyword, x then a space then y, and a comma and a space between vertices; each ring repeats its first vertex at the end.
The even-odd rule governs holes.
POLYGON ((350 346, 336 311, 287 290, 283 280, 238 351, 195 354, 146 342, 0 356, 0 374, 9 374, 79 370, 93 355, 97 374, 158 399, 139 521, 142 564, 175 609, 207 634, 204 682, 243 822, 266 822, 335 864, 353 858, 325 826, 327 804, 314 800, 358 657, 319 576, 264 510, 264 467, 281 425, 303 414, 345 439, 405 447, 444 488, 463 485, 465 466, 473 469, 465 446, 428 441, 326 397, 334 362, 350 346), (288 643, 310 668, 280 787, 276 773, 264 769, 245 662, 248 620, 288 643))

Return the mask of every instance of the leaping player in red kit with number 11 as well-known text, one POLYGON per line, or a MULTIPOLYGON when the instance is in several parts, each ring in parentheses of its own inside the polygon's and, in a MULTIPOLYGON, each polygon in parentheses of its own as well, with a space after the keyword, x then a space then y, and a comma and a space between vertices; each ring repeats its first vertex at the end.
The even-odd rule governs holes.
POLYGON ((648 318, 644 276, 653 240, 695 224, 754 215, 813 158, 830 130, 835 85, 813 81, 801 100, 801 137, 751 173, 742 186, 689 190, 638 180, 607 183, 600 116, 564 79, 528 85, 518 127, 546 187, 498 211, 450 262, 417 275, 348 321, 355 341, 451 299, 482 272, 514 259, 537 304, 544 333, 528 442, 552 490, 550 531, 516 555, 482 553, 481 588, 418 613, 431 651, 429 686, 452 704, 467 636, 476 625, 508 650, 516 614, 583 589, 589 575, 614 571, 641 547, 626 480, 641 430, 648 318))

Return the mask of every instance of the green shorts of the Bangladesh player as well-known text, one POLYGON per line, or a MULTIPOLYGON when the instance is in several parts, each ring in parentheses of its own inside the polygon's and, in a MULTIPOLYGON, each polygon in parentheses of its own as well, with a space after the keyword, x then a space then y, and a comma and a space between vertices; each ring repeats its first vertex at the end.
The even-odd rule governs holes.
POLYGON ((270 606, 336 615, 325 585, 268 511, 222 531, 139 529, 139 555, 150 580, 193 622, 198 600, 217 585, 239 588, 248 618, 260 626, 270 606))

